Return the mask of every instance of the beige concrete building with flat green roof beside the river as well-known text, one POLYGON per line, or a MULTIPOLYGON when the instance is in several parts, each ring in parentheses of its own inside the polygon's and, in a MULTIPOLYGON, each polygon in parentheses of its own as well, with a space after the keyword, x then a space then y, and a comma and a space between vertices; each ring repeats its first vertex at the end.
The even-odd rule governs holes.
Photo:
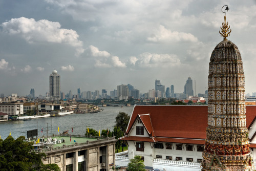
POLYGON ((55 135, 40 138, 35 152, 43 152, 44 164, 57 164, 61 170, 112 170, 115 165, 115 137, 55 135))

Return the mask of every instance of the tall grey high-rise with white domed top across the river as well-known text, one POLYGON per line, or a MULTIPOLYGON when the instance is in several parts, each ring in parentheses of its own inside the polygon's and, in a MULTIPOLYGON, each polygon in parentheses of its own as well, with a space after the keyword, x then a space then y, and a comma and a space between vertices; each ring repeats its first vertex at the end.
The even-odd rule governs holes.
POLYGON ((60 98, 60 75, 56 70, 50 75, 50 97, 60 98))

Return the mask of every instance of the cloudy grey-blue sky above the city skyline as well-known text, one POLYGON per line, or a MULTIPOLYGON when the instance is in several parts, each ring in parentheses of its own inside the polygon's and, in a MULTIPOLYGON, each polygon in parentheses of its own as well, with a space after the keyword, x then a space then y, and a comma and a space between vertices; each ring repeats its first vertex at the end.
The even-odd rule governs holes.
POLYGON ((0 93, 45 96, 54 69, 64 93, 127 83, 146 93, 156 79, 183 93, 188 77, 204 93, 224 5, 246 93, 256 92, 256 1, 2 0, 0 93))

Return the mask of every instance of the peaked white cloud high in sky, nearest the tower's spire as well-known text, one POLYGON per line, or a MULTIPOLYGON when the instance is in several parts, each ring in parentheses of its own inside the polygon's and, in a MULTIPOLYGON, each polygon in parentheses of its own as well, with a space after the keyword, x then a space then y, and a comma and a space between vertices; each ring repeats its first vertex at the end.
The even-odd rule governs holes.
POLYGON ((191 41, 191 42, 197 42, 198 39, 191 33, 183 33, 183 32, 177 32, 177 31, 171 31, 166 29, 164 26, 160 25, 159 28, 156 30, 154 34, 151 35, 151 37, 147 37, 148 41, 153 42, 163 42, 163 41, 191 41))

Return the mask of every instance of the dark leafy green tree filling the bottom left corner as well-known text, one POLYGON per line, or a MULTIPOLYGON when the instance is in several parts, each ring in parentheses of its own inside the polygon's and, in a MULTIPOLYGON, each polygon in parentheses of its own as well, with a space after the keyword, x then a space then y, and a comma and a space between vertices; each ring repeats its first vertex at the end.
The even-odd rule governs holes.
MULTIPOLYGON (((8 136, 0 139, 0 170, 37 170, 46 165, 42 164, 44 153, 31 152, 33 142, 25 142, 25 137, 20 136, 16 140, 8 136)), ((58 170, 55 170, 58 171, 58 170)))

